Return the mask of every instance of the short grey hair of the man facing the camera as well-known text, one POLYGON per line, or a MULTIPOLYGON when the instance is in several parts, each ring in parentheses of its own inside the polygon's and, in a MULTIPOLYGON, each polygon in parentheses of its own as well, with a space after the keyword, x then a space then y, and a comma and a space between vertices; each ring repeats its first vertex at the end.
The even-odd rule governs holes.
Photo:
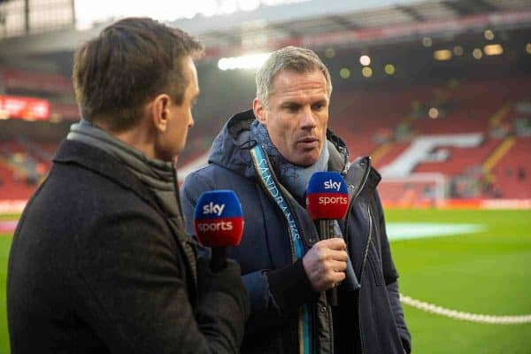
POLYGON ((273 51, 266 63, 262 65, 256 74, 257 98, 267 105, 267 99, 271 94, 274 77, 282 70, 295 73, 313 73, 319 70, 327 81, 328 97, 332 94, 332 80, 327 66, 314 51, 300 47, 284 47, 280 50, 273 51))

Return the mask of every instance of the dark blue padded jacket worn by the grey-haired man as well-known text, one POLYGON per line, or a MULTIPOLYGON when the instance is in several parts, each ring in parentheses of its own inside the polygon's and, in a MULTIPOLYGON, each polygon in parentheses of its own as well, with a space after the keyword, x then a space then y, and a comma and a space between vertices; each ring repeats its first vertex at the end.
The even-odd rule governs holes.
MULTIPOLYGON (((371 167, 370 158, 358 158, 349 164, 345 144, 327 132, 328 169, 342 173, 350 185, 350 209, 340 226, 361 283, 361 289, 353 293, 340 287, 340 306, 333 311, 326 296, 313 291, 302 261, 294 262, 284 216, 258 183, 250 158, 255 142, 250 140, 249 127, 254 119, 251 111, 229 119, 212 145, 209 165, 190 173, 181 186, 182 210, 190 234, 194 208, 202 192, 232 189, 242 203, 242 242, 228 250, 228 257, 242 267, 250 295, 251 316, 242 353, 299 352, 297 311, 305 303, 312 304, 312 353, 342 352, 341 348, 351 348, 350 344, 338 347, 338 342, 345 341, 358 342, 355 352, 366 354, 411 351, 411 336, 398 295, 398 274, 376 192, 381 178, 371 167)), ((296 201, 287 190, 283 190, 283 196, 293 209, 309 250, 319 241, 317 229, 303 201, 296 201)))

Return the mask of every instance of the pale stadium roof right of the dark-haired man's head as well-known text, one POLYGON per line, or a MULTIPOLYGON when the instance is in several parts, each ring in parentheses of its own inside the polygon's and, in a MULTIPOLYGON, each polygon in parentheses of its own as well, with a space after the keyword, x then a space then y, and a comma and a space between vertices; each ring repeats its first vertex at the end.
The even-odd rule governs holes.
MULTIPOLYGON (((263 8, 244 17, 234 13, 215 19, 182 19, 173 24, 199 35, 207 48, 226 48, 240 43, 245 47, 246 43, 266 44, 335 32, 522 11, 531 11, 528 0, 313 0, 286 5, 285 9, 263 8)), ((527 26, 531 26, 528 17, 527 26)))

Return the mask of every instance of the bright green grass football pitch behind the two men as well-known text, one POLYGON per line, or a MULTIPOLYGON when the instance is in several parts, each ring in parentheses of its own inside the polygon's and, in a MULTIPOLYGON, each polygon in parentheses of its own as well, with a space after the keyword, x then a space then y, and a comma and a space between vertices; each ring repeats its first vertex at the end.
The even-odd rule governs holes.
MULTIPOLYGON (((402 294, 459 312, 531 314, 531 211, 388 210, 386 216, 402 294)), ((0 353, 9 352, 4 304, 11 242, 11 235, 0 236, 0 353)), ((531 323, 473 323, 406 304, 404 312, 414 353, 531 353, 531 323)))

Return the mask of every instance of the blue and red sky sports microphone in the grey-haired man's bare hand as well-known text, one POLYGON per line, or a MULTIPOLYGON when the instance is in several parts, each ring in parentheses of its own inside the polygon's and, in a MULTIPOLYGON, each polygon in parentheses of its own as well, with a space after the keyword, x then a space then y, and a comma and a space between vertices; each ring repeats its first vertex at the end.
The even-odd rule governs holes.
MULTIPOLYGON (((334 220, 343 219, 349 210, 349 190, 341 174, 316 172, 306 190, 306 207, 313 220, 319 222, 321 240, 334 236, 334 220)), ((337 289, 329 289, 330 304, 337 305, 337 289)))

